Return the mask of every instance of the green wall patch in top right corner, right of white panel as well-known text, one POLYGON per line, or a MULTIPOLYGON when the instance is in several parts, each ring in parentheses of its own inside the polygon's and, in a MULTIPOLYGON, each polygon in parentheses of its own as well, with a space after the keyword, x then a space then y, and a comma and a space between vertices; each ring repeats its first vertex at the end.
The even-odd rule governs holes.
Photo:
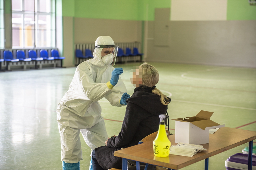
POLYGON ((256 20, 256 6, 248 0, 228 0, 227 20, 256 20))

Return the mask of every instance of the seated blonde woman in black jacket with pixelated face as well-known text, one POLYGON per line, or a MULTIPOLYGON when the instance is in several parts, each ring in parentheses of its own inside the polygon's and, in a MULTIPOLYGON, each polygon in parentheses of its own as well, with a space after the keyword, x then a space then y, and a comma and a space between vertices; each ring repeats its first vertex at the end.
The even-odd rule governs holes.
POLYGON ((159 115, 166 114, 171 101, 156 88, 159 74, 156 68, 144 62, 131 71, 131 83, 136 87, 126 100, 127 108, 121 132, 108 138, 106 146, 92 152, 92 169, 122 169, 122 158, 114 156, 121 148, 137 145, 144 137, 158 131, 159 115))

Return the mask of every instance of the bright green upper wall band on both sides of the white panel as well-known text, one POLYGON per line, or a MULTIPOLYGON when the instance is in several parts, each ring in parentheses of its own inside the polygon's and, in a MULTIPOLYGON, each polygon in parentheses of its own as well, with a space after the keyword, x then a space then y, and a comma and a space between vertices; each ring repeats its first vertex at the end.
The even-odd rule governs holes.
MULTIPOLYGON (((155 8, 170 8, 171 0, 62 0, 63 16, 153 21, 155 8)), ((228 0, 227 20, 256 20, 248 0, 228 0)))

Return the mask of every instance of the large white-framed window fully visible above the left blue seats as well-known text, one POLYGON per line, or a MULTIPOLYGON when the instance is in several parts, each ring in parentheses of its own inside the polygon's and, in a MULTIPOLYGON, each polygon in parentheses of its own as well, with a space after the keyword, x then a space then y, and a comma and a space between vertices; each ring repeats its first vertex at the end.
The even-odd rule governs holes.
POLYGON ((12 0, 13 48, 55 47, 55 0, 12 0))

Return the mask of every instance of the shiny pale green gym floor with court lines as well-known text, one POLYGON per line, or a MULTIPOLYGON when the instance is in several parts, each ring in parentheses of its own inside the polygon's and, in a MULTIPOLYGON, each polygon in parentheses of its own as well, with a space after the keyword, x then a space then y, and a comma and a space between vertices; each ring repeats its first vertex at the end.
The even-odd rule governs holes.
MULTIPOLYGON (((128 94, 133 94, 130 72, 141 63, 116 64, 127 71, 121 75, 128 94)), ((256 69, 189 64, 150 63, 158 69, 156 87, 172 98, 171 119, 214 112, 212 121, 226 127, 256 131, 256 69)), ((0 72, 0 170, 62 169, 60 135, 56 108, 69 89, 73 68, 48 68, 0 72)), ((111 106, 103 98, 102 116, 108 136, 118 135, 126 107, 111 106)), ((82 143, 80 169, 89 169, 90 148, 82 143)), ((253 142, 255 145, 255 141, 253 142)), ((248 143, 209 158, 209 169, 226 170, 225 160, 248 143)), ((182 170, 204 169, 200 161, 182 170)))

